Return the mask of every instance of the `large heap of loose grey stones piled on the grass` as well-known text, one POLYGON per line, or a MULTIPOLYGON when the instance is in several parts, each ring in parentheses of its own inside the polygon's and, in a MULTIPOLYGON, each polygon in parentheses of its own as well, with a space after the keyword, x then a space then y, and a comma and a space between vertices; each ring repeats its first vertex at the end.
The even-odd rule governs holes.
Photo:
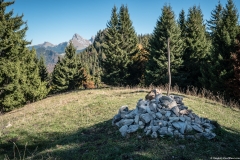
POLYGON ((188 109, 183 97, 166 96, 158 89, 150 91, 145 100, 140 99, 134 110, 129 110, 128 106, 120 107, 112 119, 112 125, 117 126, 124 137, 139 129, 152 138, 213 139, 216 136, 212 121, 188 109))

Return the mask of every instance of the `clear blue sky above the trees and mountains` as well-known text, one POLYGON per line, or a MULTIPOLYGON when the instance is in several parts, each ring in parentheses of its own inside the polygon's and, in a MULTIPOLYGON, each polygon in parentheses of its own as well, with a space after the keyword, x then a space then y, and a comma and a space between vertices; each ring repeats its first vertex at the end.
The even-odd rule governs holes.
MULTIPOLYGON (((220 2, 225 6, 227 0, 220 2)), ((240 0, 234 3, 239 9, 240 0)), ((176 18, 181 9, 187 13, 193 5, 200 5, 208 20, 218 0, 15 0, 7 10, 24 14, 29 27, 26 39, 33 45, 45 41, 58 44, 70 40, 74 33, 90 39, 106 28, 113 6, 120 8, 122 4, 128 6, 137 34, 145 34, 153 32, 164 4, 172 6, 176 18)))

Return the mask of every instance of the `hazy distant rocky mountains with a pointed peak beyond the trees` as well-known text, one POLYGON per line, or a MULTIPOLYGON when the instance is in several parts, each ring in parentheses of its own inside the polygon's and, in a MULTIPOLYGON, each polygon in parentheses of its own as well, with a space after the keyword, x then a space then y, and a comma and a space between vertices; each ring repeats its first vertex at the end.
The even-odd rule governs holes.
MULTIPOLYGON (((87 40, 81 37, 79 34, 75 33, 71 39, 74 47, 77 50, 77 53, 83 51, 89 45, 91 45, 94 41, 94 37, 87 40)), ((50 42, 44 42, 42 44, 33 45, 29 48, 35 48, 37 52, 37 57, 39 58, 41 55, 45 58, 45 63, 48 69, 48 72, 52 72, 55 64, 58 61, 58 57, 63 57, 65 54, 65 48, 68 45, 68 41, 62 42, 58 45, 53 45, 50 42)))

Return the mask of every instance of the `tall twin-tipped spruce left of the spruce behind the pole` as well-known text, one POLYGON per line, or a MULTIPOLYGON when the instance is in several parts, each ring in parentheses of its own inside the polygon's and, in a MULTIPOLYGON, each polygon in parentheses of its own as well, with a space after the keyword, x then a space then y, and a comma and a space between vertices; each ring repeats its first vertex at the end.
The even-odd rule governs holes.
POLYGON ((121 6, 119 14, 116 6, 112 9, 111 20, 107 24, 102 61, 103 81, 110 85, 126 85, 129 79, 131 57, 137 50, 137 36, 132 26, 128 8, 121 6))

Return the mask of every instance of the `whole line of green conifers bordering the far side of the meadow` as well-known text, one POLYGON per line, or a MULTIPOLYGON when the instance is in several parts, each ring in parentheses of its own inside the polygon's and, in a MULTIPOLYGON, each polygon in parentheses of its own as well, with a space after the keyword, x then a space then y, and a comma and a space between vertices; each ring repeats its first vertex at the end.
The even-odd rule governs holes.
POLYGON ((204 22, 199 6, 162 7, 152 34, 137 35, 128 7, 114 6, 106 28, 82 53, 70 42, 52 74, 24 39, 22 16, 5 13, 14 2, 0 1, 0 110, 10 111, 48 94, 80 88, 149 86, 168 83, 167 39, 170 39, 172 85, 195 86, 240 99, 240 26, 232 0, 220 2, 204 22))

